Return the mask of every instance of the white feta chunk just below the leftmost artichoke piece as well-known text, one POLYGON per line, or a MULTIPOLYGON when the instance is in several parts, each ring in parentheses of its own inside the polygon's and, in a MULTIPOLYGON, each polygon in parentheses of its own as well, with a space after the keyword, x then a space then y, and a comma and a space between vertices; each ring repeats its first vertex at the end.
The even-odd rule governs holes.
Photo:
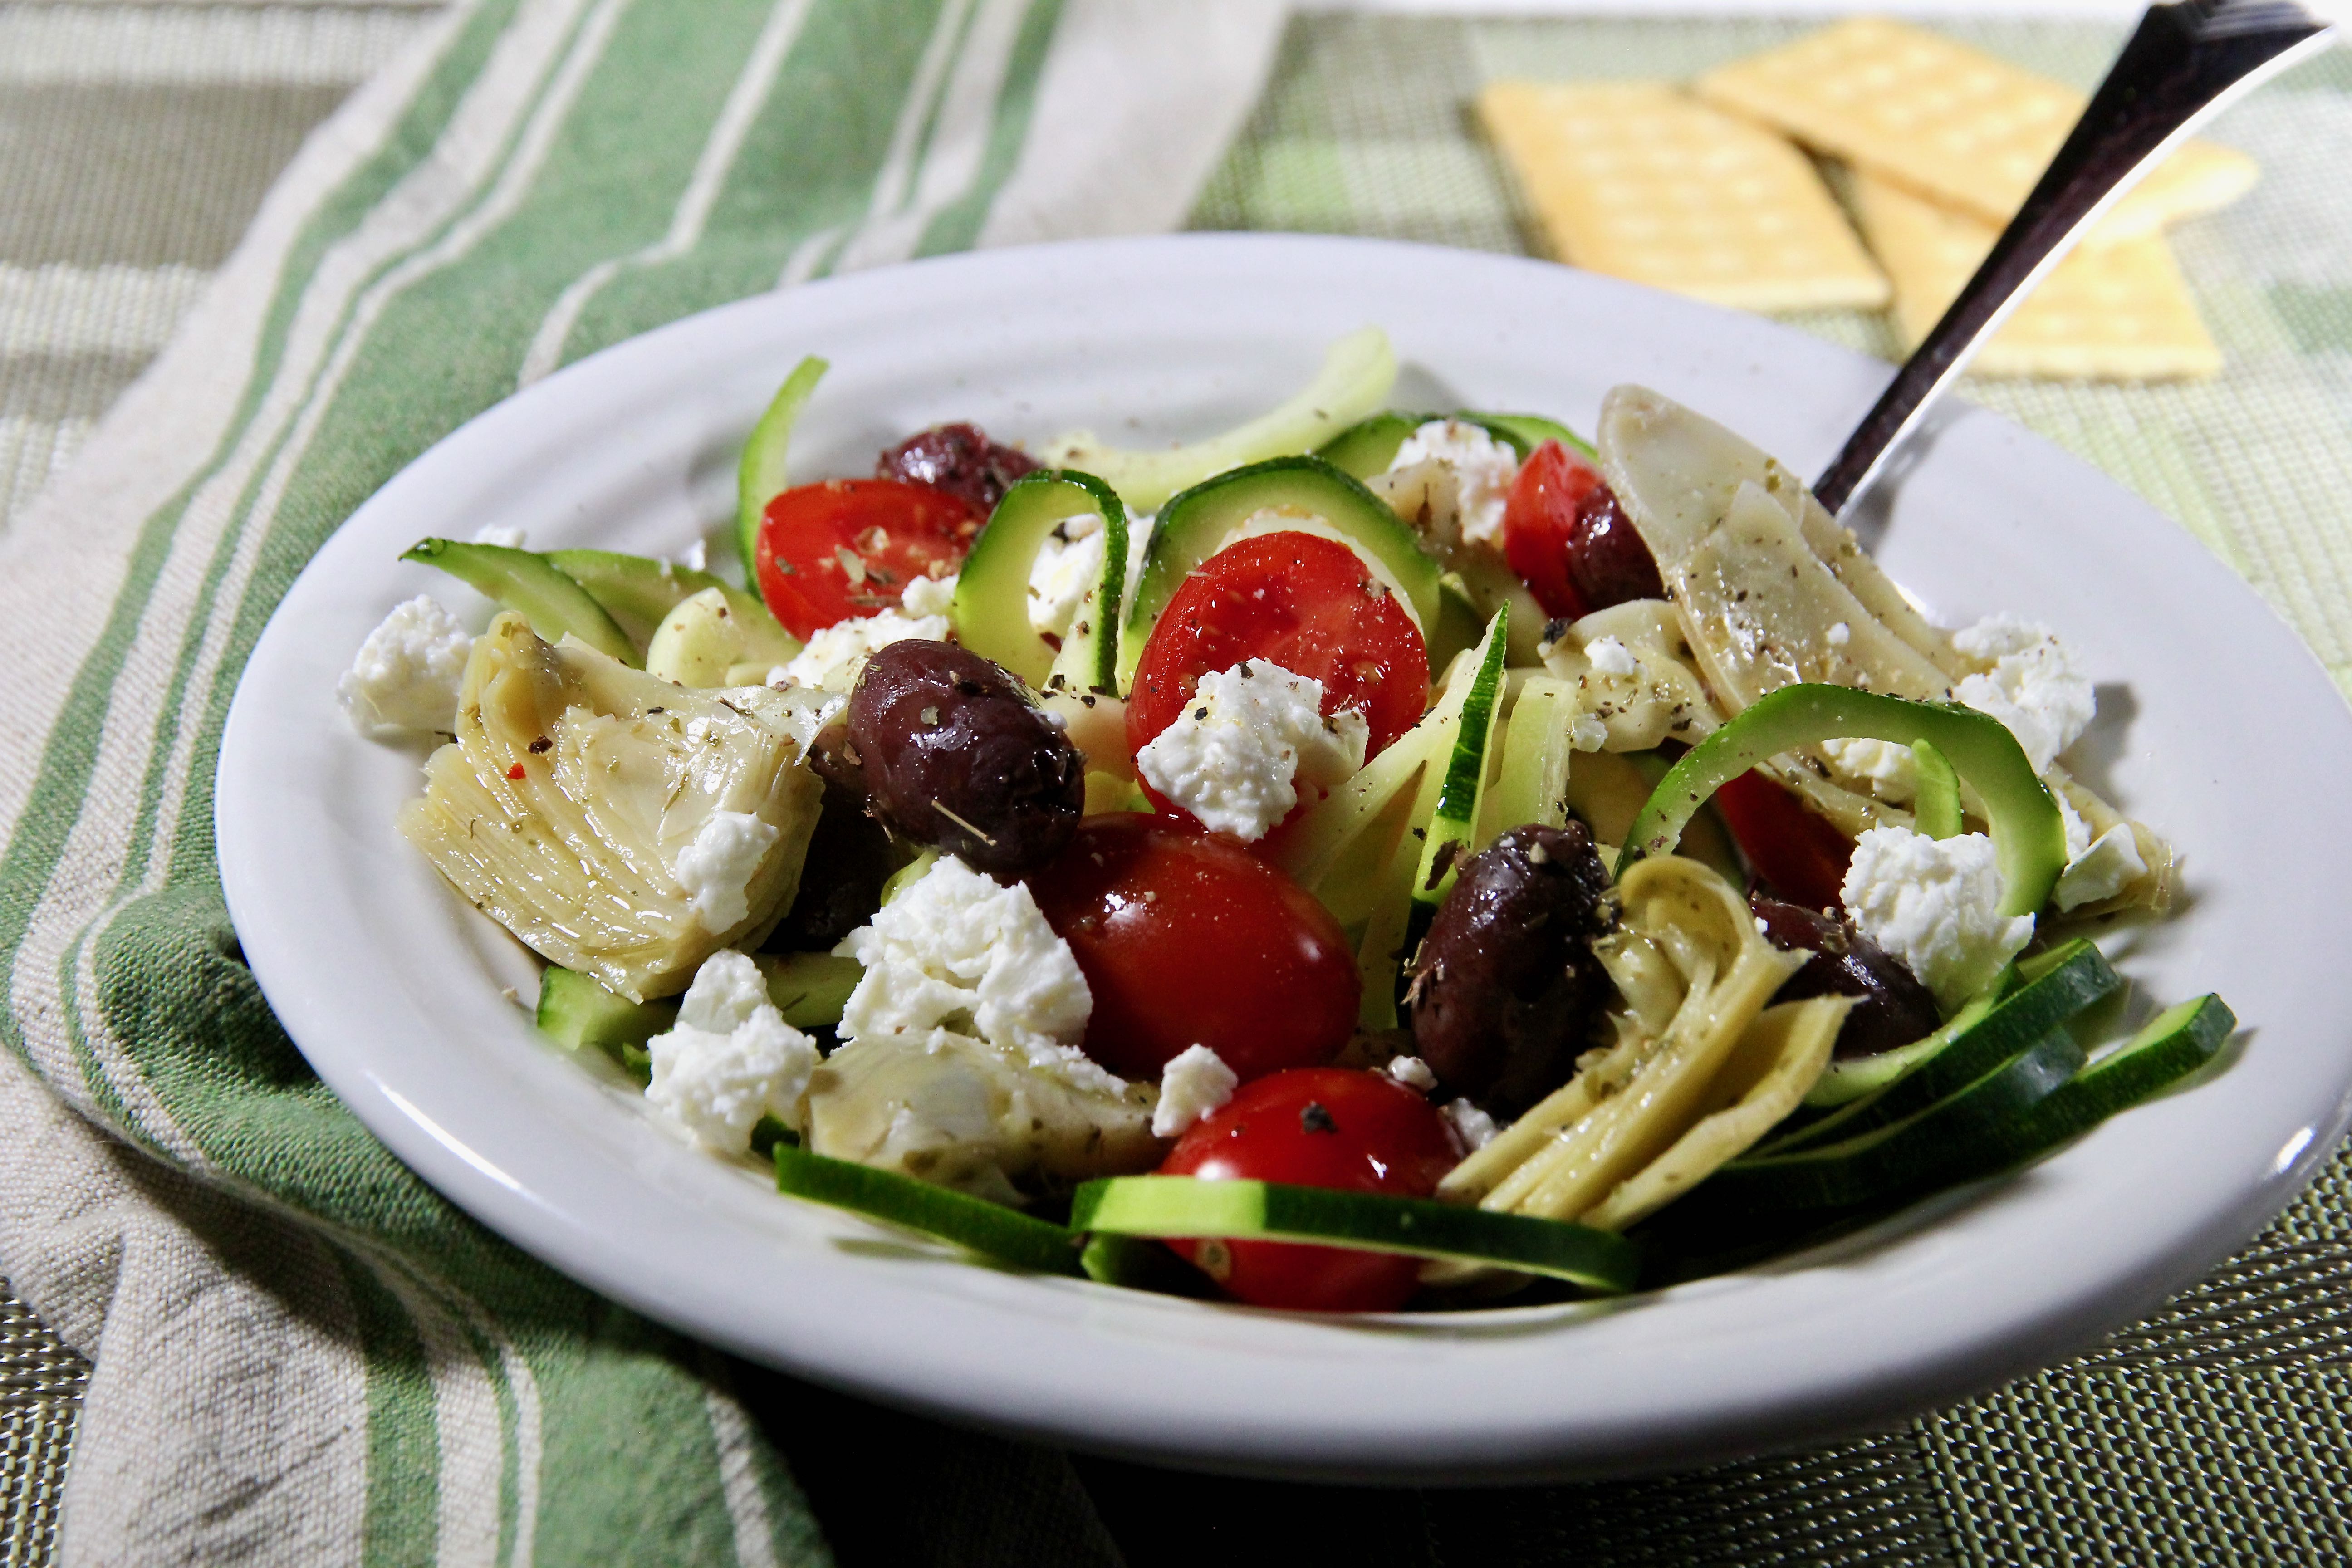
POLYGON ((694 971, 677 1025, 644 1048, 654 1058, 644 1098, 703 1147, 743 1154, 760 1117, 800 1131, 816 1044, 783 1020, 741 952, 713 952, 694 971))

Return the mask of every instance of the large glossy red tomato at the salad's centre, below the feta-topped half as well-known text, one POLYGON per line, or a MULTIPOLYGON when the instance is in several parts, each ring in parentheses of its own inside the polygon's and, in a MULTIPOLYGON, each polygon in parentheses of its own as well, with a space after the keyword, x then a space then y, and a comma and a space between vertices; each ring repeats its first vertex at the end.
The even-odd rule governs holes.
POLYGON ((1244 1081, 1327 1063, 1362 980, 1331 912, 1228 837, 1143 813, 1089 816, 1030 877, 1094 992, 1087 1056, 1131 1079, 1209 1046, 1244 1081))

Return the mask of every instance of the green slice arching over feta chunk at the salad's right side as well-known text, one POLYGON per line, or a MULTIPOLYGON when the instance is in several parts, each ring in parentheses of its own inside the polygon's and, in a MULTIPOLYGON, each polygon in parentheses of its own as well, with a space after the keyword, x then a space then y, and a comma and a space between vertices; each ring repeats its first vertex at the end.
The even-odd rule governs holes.
POLYGON ((1912 703, 1825 684, 1769 691, 1693 745, 1625 830, 1618 875, 1639 856, 1672 851, 1691 813, 1755 764, 1839 736, 1933 743, 1985 802, 2002 865, 2002 914, 2037 914, 2049 903, 2065 870, 2065 820, 2025 748, 1999 719, 1957 703, 1912 703))

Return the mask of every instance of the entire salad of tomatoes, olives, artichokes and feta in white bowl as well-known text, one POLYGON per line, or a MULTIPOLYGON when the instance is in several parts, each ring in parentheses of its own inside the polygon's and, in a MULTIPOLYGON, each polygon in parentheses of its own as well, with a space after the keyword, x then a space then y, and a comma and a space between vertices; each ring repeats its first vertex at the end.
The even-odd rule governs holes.
MULTIPOLYGON (((1719 1272, 2204 1067, 2089 940, 2176 856, 2065 764, 2053 628, 1938 628, 1778 461, 1390 407, 1378 329, 1211 440, 901 433, 701 559, 409 559, 343 675, 536 1018, 786 1194, 1315 1312, 1719 1272)), ((1025 435, 1025 433, 1016 433, 1025 435)))

